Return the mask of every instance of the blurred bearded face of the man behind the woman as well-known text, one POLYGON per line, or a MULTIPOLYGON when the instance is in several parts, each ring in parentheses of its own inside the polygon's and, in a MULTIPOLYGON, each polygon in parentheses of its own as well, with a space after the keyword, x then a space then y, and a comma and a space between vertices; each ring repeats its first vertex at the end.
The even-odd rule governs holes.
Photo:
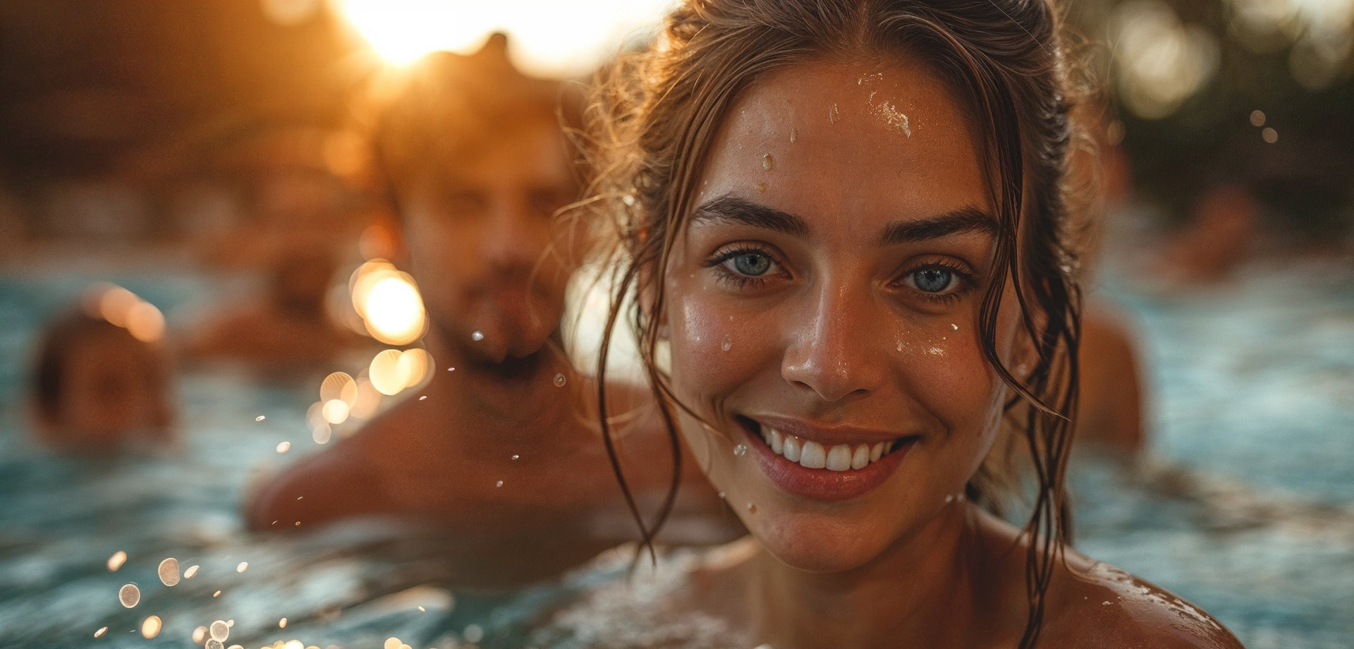
POLYGON ((573 270, 552 214, 575 194, 552 121, 525 123, 451 164, 429 163, 403 196, 403 219, 435 335, 489 363, 540 350, 559 325, 573 270))

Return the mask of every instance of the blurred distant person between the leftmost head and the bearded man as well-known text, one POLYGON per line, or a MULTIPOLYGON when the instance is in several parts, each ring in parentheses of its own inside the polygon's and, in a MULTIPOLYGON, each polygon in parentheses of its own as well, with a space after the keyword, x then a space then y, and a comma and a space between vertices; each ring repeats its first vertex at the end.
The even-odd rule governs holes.
POLYGON ((326 243, 278 253, 264 294, 199 325, 184 341, 184 355, 276 367, 330 360, 367 344, 329 314, 326 299, 337 270, 326 243))

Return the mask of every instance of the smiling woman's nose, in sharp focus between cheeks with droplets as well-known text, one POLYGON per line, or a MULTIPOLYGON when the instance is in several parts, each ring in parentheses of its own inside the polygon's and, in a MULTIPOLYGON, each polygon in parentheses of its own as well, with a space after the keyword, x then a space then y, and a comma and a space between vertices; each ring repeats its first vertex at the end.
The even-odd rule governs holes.
POLYGON ((873 302, 868 293, 848 287, 816 291, 791 320, 781 377, 829 402, 876 390, 887 375, 888 355, 876 340, 887 328, 875 317, 881 306, 873 302))

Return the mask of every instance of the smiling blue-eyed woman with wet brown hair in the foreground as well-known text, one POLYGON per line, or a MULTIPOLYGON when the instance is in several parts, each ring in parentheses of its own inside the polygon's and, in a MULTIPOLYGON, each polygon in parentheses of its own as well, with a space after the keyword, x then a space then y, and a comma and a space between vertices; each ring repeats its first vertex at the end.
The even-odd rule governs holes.
POLYGON ((674 439, 756 543, 670 608, 747 646, 1239 646, 1067 547, 1056 16, 700 0, 604 87, 611 322, 632 305, 674 439), (991 512, 1007 438, 1039 482, 1024 530, 991 512))

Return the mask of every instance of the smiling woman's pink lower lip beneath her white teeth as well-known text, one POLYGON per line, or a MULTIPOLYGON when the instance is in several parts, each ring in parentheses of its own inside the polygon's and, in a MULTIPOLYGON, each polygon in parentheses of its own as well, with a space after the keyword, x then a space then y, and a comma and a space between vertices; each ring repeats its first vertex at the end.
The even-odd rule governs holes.
POLYGON ((898 440, 895 448, 871 462, 861 469, 846 472, 833 472, 827 469, 807 469, 798 462, 791 462, 772 451, 766 442, 754 435, 747 427, 739 427, 746 444, 753 448, 757 466, 781 490, 808 500, 838 501, 862 496, 881 485, 903 463, 907 451, 915 444, 917 438, 898 440))

